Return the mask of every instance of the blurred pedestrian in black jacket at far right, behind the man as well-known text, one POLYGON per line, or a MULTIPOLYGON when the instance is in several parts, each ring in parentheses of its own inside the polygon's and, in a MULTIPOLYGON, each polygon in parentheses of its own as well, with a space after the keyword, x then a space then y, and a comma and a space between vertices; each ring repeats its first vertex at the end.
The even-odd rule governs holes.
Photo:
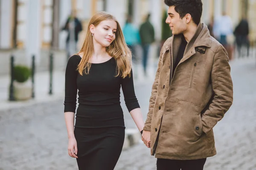
POLYGON ((239 24, 236 26, 234 35, 236 37, 236 45, 239 53, 239 57, 241 56, 241 47, 247 47, 247 57, 249 56, 250 43, 249 43, 249 24, 246 17, 243 17, 239 24))

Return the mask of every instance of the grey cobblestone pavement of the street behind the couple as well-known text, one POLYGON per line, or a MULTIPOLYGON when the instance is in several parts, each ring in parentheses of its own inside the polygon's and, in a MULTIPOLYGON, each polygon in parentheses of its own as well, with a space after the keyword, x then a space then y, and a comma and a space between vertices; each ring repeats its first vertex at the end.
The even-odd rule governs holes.
MULTIPOLYGON (((205 170, 256 170, 256 61, 231 62, 234 102, 214 127, 217 155, 205 170)), ((152 81, 135 90, 145 119, 152 81)), ((125 126, 135 127, 125 111, 125 126)), ((0 112, 0 170, 75 170, 67 154, 63 101, 0 112)), ((156 159, 144 144, 123 150, 115 170, 156 170, 156 159)))

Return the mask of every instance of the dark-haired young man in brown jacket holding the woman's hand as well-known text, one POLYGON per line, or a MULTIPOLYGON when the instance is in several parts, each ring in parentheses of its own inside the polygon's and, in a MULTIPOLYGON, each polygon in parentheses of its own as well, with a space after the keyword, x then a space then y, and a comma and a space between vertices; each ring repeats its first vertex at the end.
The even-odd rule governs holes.
POLYGON ((233 102, 229 59, 200 22, 201 0, 164 2, 173 37, 160 52, 142 139, 157 170, 203 170, 216 154, 212 128, 233 102))

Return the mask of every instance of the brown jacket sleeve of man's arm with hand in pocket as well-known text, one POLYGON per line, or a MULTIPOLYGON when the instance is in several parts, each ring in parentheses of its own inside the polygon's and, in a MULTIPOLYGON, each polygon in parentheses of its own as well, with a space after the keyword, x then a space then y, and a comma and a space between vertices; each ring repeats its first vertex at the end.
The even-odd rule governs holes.
POLYGON ((227 51, 222 45, 215 52, 211 81, 214 96, 209 108, 202 114, 203 132, 208 134, 233 103, 233 82, 227 51))

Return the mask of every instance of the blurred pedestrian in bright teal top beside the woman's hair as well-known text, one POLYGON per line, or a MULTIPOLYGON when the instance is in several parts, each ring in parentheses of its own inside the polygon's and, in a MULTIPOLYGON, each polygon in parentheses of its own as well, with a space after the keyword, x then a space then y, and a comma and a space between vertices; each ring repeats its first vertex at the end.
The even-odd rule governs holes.
POLYGON ((139 30, 132 24, 131 16, 127 17, 125 26, 123 27, 122 31, 125 37, 125 42, 128 48, 130 48, 131 50, 132 61, 134 63, 133 74, 134 74, 134 77, 137 77, 136 64, 138 62, 138 56, 136 53, 136 45, 140 44, 140 34, 139 34, 139 30))

